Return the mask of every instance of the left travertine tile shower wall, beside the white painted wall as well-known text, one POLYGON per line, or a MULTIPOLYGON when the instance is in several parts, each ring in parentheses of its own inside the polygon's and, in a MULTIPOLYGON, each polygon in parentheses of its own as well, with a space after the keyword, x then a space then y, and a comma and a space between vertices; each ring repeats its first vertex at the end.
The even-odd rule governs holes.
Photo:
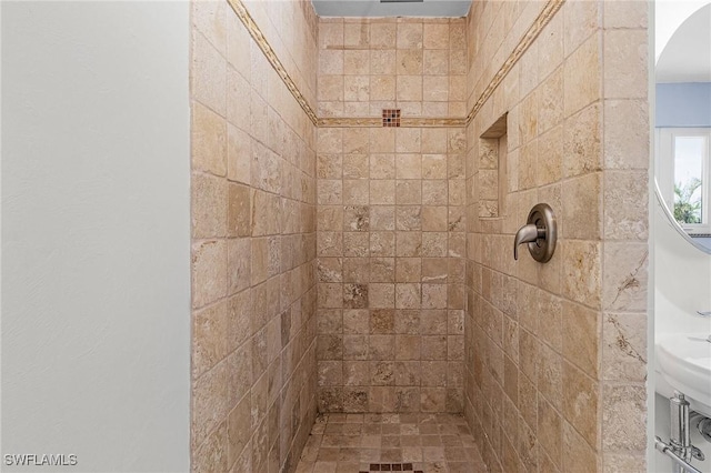
MULTIPOLYGON (((250 13, 307 98, 310 2, 250 13)), ((192 470, 296 469, 316 404, 316 128, 224 1, 192 3, 192 470)))

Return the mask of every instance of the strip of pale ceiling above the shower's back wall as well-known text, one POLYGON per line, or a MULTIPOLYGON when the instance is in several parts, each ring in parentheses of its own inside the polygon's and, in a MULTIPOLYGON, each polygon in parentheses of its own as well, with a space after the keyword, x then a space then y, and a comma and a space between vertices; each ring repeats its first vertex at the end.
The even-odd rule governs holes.
POLYGON ((471 0, 312 0, 320 17, 465 17, 471 0))

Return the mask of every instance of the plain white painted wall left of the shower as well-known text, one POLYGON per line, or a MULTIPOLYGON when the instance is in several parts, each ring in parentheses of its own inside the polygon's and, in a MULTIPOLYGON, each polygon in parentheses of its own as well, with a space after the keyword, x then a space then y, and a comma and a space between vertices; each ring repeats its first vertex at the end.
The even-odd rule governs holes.
POLYGON ((0 469, 188 471, 189 6, 1 9, 0 469))

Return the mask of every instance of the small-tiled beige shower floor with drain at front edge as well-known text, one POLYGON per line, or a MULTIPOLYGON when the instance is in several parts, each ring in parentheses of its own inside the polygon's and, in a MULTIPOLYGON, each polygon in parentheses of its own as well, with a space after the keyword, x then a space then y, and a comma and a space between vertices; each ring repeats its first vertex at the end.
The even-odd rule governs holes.
POLYGON ((455 414, 320 414, 297 473, 484 473, 455 414))

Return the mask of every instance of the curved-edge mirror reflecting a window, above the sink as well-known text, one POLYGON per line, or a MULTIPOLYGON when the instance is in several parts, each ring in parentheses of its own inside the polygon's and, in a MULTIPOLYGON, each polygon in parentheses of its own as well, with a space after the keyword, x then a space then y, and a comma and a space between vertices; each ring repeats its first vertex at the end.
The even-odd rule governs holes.
POLYGON ((657 198, 711 253, 711 0, 658 2, 655 18, 657 198))

